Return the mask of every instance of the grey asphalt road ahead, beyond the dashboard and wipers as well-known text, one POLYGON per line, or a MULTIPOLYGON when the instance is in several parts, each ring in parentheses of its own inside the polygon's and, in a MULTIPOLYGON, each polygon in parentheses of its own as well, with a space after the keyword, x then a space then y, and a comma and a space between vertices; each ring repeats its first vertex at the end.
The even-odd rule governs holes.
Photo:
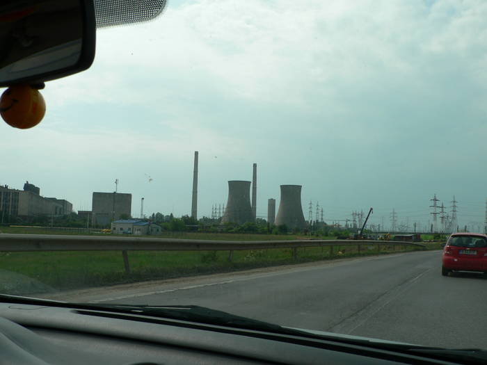
POLYGON ((440 251, 105 291, 97 302, 202 305, 290 327, 452 348, 487 348, 487 279, 442 277, 440 251))

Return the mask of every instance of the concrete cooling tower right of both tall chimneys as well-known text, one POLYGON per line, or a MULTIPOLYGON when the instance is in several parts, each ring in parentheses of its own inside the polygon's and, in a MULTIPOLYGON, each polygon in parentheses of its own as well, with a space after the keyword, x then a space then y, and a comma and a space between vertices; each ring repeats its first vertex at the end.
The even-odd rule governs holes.
POLYGON ((281 185, 280 203, 276 225, 287 225, 289 229, 305 227, 301 206, 301 185, 281 185))

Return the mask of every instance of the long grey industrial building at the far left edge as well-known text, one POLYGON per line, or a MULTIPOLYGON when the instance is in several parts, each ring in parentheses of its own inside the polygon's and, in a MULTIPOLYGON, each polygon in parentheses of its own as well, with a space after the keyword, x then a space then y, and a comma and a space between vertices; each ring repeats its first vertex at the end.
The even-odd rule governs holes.
POLYGON ((64 216, 72 212, 72 204, 55 197, 42 197, 40 188, 26 181, 24 190, 0 186, 2 220, 10 217, 64 216))

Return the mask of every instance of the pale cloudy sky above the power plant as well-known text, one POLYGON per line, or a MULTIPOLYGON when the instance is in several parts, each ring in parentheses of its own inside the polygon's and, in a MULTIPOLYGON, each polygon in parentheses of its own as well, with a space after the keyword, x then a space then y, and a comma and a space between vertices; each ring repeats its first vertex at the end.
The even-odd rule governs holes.
MULTIPOLYGON (((132 194, 132 215, 225 204, 251 180, 257 216, 280 184, 330 222, 428 225, 433 194, 483 225, 487 169, 484 0, 169 1, 152 22, 97 31, 89 70, 47 83, 38 126, 0 123, 0 184, 91 209, 132 194), (150 181, 149 177, 152 179, 150 181)), ((1 91, 1 90, 0 90, 1 91)))

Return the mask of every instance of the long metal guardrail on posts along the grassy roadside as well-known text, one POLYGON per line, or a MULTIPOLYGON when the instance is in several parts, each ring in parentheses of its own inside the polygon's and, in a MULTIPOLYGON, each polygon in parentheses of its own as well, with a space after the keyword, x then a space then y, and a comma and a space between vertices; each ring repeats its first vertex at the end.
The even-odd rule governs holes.
POLYGON ((0 234, 0 252, 35 252, 35 251, 122 251, 125 272, 130 273, 128 251, 229 251, 228 260, 232 261, 233 252, 238 250, 269 250, 291 248, 292 256, 297 259, 298 248, 330 247, 333 254, 335 246, 381 245, 415 246, 426 248, 421 243, 404 241, 355 241, 355 240, 288 240, 288 241, 209 241, 173 238, 120 237, 120 236, 73 236, 58 234, 0 234))

